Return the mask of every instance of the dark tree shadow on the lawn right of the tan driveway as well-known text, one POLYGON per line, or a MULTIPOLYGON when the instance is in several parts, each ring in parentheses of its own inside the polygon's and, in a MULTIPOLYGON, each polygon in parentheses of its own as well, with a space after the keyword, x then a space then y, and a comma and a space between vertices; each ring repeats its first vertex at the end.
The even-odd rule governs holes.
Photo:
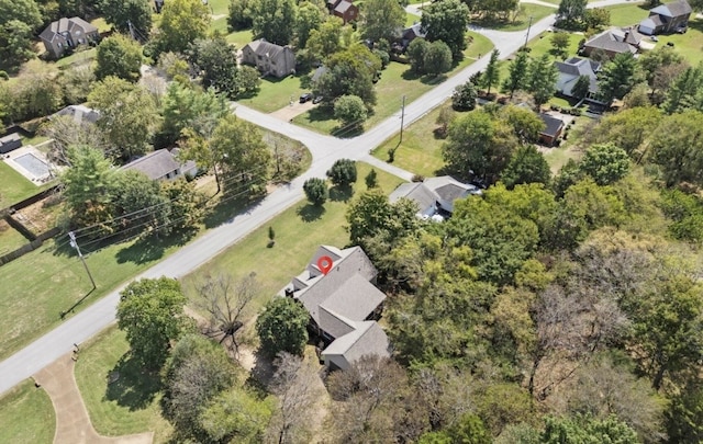
POLYGON ((149 373, 130 353, 125 353, 108 374, 105 399, 131 411, 148 407, 161 389, 158 373, 149 373))

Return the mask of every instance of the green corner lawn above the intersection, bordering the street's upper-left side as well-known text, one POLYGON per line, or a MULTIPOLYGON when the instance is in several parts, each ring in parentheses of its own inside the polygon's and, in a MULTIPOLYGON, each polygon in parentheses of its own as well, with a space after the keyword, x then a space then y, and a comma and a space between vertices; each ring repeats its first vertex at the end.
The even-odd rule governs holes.
MULTIPOLYGON (((471 38, 471 43, 464 52, 464 60, 448 72, 447 77, 472 64, 478 55, 486 55, 493 48, 493 44, 480 34, 469 32, 468 36, 471 38)), ((376 84, 377 105, 373 109, 373 114, 369 116, 364 124, 366 128, 370 128, 392 114, 398 113, 402 104, 403 95, 405 96, 405 104, 409 104, 447 78, 417 78, 413 75, 409 76, 409 65, 392 61, 383 70, 381 79, 376 84)), ((264 88, 261 88, 261 90, 264 90, 264 88)), ((338 128, 337 121, 333 118, 328 110, 319 107, 299 115, 293 122, 320 133, 333 133, 335 136, 341 137, 354 135, 354 132, 349 129, 338 128)))

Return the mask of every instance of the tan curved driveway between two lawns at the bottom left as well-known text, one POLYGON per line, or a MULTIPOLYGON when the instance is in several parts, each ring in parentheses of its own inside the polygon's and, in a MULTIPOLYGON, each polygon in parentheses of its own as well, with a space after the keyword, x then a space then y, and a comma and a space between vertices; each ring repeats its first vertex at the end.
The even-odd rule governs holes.
POLYGON ((54 444, 152 444, 153 432, 124 436, 100 436, 93 429, 74 377, 71 353, 34 375, 46 390, 56 412, 54 444))

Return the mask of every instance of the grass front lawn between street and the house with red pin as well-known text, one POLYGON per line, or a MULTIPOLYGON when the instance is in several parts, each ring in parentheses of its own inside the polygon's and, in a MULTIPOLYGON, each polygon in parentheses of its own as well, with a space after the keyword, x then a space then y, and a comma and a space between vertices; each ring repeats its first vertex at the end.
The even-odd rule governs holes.
MULTIPOLYGON (((367 163, 357 162, 355 194, 366 190, 364 178, 370 169, 367 163)), ((377 170, 377 173, 378 183, 387 194, 401 183, 400 179, 386 172, 377 170)), ((348 202, 330 200, 319 209, 306 201, 300 202, 186 276, 186 293, 191 299, 194 298, 193 284, 208 274, 216 276, 223 273, 241 278, 254 272, 258 289, 252 308, 260 308, 304 269, 317 246, 324 243, 344 248, 349 243, 349 235, 344 228, 347 225, 347 206, 348 202), (272 248, 267 248, 269 226, 276 232, 272 248)))

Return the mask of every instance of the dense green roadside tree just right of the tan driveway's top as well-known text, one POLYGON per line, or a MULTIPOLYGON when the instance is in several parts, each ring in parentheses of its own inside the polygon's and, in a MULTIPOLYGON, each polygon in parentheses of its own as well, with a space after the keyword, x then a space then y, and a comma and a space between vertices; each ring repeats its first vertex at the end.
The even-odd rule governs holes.
POLYGON ((182 333, 186 301, 178 281, 168 277, 134 281, 120 292, 118 326, 126 333, 132 355, 147 368, 160 368, 170 342, 182 333))

